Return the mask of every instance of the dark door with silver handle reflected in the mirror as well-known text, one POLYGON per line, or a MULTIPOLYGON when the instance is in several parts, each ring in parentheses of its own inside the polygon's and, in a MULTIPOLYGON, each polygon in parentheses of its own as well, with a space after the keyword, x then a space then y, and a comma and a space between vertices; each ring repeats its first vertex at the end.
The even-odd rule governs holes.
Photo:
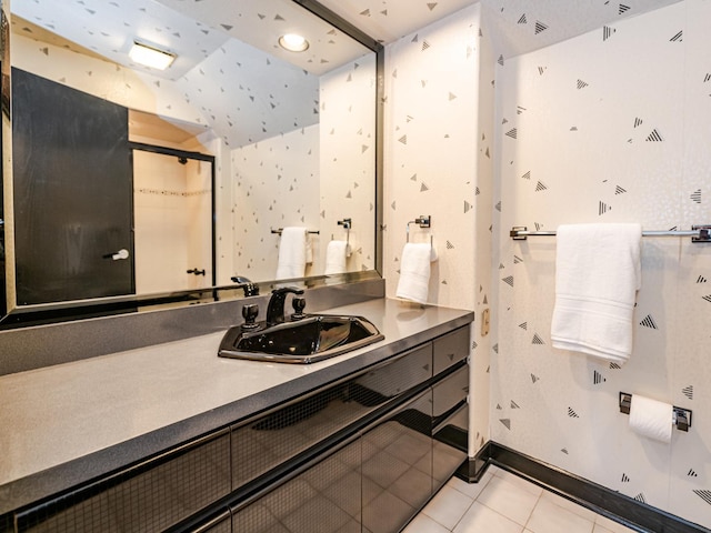
POLYGON ((12 69, 12 143, 18 304, 133 293, 128 109, 12 69))

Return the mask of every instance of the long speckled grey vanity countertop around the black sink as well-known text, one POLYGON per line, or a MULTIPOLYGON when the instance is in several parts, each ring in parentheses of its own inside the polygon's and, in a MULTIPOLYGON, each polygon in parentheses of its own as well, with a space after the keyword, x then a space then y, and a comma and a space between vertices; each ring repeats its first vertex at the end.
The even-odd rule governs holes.
POLYGON ((326 312, 365 316, 385 339, 298 365, 218 358, 219 332, 1 376, 0 514, 223 428, 473 320, 470 311, 384 299, 326 312))

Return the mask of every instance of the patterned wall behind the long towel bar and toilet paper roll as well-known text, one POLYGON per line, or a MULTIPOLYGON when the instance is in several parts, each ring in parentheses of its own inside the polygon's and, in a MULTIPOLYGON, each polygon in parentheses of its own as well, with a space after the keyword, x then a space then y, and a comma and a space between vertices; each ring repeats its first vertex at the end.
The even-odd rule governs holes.
POLYGON ((491 351, 494 441, 707 527, 711 248, 643 240, 634 351, 620 368, 551 348, 555 241, 509 230, 708 223, 709 20, 709 2, 687 0, 498 69, 491 351), (692 429, 671 444, 639 436, 620 391, 692 409, 692 429))

